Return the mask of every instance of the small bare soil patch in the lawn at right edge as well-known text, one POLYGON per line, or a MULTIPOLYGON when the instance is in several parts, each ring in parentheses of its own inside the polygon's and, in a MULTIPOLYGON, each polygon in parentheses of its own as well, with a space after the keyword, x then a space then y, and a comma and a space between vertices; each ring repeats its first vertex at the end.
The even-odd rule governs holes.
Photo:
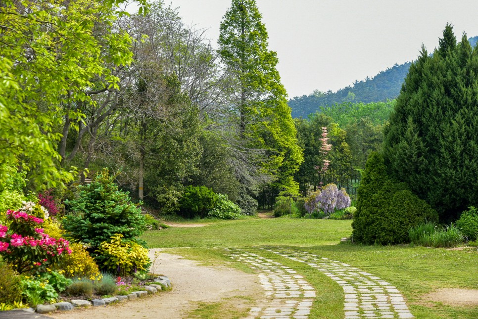
POLYGON ((449 306, 478 306, 478 290, 443 288, 422 296, 427 301, 437 301, 449 306))

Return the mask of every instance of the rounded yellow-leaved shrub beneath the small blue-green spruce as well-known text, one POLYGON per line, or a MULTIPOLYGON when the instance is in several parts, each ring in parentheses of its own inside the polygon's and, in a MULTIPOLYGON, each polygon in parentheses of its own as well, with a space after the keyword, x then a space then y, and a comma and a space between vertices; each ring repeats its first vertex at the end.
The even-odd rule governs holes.
POLYGON ((101 268, 120 276, 147 270, 150 265, 147 249, 134 241, 122 238, 123 235, 115 234, 111 236, 111 240, 99 245, 96 253, 101 268))

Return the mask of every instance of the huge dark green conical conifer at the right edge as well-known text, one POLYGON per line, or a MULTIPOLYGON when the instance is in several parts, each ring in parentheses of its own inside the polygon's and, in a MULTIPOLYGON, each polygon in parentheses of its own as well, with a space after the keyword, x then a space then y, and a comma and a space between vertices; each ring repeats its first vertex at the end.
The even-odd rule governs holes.
POLYGON ((478 203, 478 49, 451 25, 413 62, 389 125, 384 160, 443 221, 478 203))

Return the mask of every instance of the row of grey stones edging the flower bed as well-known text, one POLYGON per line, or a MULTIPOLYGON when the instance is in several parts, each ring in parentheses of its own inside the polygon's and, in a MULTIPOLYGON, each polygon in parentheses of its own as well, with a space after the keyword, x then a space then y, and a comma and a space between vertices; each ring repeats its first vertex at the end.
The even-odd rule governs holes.
MULTIPOLYGON (((158 276, 155 280, 151 282, 160 282, 162 285, 171 288, 171 280, 166 276, 158 276)), ((92 301, 84 300, 84 299, 73 299, 71 302, 57 302, 51 305, 37 305, 35 311, 38 314, 48 314, 54 311, 70 311, 75 308, 79 307, 99 307, 103 306, 106 307, 107 305, 115 304, 121 301, 126 300, 135 300, 137 298, 143 298, 148 294, 154 294, 158 291, 162 290, 162 286, 158 284, 146 284, 142 286, 144 290, 141 291, 133 291, 132 293, 126 296, 114 296, 109 298, 102 298, 102 299, 93 299, 92 301)), ((32 309, 33 310, 33 309, 32 309)))

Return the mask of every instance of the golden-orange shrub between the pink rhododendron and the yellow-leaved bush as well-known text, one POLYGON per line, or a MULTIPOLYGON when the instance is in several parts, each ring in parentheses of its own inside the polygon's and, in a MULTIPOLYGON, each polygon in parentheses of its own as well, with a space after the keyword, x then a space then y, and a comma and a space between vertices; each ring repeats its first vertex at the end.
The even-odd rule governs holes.
POLYGON ((88 251, 79 243, 70 243, 71 255, 65 255, 60 267, 65 271, 68 278, 89 278, 98 280, 101 278, 98 265, 88 251))

